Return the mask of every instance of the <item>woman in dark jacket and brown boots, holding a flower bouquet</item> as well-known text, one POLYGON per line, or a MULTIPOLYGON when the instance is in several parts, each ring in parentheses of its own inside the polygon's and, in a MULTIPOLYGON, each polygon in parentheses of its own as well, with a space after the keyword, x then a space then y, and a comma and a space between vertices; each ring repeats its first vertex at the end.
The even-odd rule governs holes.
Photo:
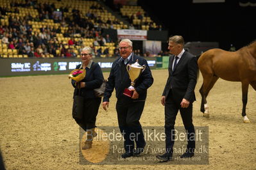
POLYGON ((92 148, 92 139, 97 135, 94 128, 96 127, 96 116, 98 114, 99 105, 101 104, 101 97, 94 95, 94 89, 101 86, 104 77, 101 67, 98 63, 92 61, 92 49, 90 47, 84 47, 81 50, 81 61, 81 65, 76 66, 76 68, 86 70, 85 78, 80 82, 72 80, 71 83, 75 88, 74 96, 78 95, 80 86, 80 96, 84 98, 83 116, 81 119, 74 119, 83 130, 87 131, 87 140, 82 147, 82 149, 85 150, 92 148))

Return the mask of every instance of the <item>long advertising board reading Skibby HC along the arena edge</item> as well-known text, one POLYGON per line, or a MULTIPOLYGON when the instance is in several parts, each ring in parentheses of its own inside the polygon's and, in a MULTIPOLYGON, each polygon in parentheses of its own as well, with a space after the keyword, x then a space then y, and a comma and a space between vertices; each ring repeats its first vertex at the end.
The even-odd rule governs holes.
MULTIPOLYGON (((94 58, 103 72, 109 72, 116 58, 94 58)), ((150 68, 156 68, 156 58, 145 58, 150 68)), ((70 73, 81 63, 80 58, 1 58, 0 77, 70 73)))

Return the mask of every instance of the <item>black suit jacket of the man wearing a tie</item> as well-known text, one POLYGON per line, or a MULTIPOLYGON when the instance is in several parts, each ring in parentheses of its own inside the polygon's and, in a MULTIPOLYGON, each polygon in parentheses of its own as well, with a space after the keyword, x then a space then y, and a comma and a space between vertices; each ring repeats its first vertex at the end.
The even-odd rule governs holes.
POLYGON ((182 98, 194 102, 196 97, 194 95, 194 88, 196 87, 198 64, 195 56, 185 51, 173 70, 173 59, 175 56, 169 58, 169 77, 164 88, 162 96, 166 96, 169 90, 172 89, 173 94, 183 95, 182 98))

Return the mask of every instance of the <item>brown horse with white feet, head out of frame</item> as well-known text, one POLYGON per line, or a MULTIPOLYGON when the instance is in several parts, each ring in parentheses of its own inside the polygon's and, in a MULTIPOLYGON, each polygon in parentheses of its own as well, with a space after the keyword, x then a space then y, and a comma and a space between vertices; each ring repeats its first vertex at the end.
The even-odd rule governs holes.
POLYGON ((203 84, 200 88, 203 116, 209 118, 206 98, 215 82, 221 78, 226 81, 242 82, 242 116, 244 123, 249 123, 250 120, 246 116, 246 104, 249 84, 256 90, 256 41, 235 52, 210 49, 197 57, 198 67, 203 75, 203 84))

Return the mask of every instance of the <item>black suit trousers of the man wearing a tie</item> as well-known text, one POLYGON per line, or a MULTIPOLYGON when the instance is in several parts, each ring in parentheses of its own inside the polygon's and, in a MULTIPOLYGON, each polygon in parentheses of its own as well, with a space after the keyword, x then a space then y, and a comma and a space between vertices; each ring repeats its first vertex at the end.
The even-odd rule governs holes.
POLYGON ((194 125, 192 123, 192 103, 189 104, 189 107, 182 108, 180 103, 182 98, 185 95, 183 93, 176 94, 175 91, 170 89, 169 94, 166 97, 166 104, 164 107, 165 112, 165 133, 166 133, 166 151, 173 153, 173 145, 175 143, 175 120, 180 111, 182 116, 183 125, 187 132, 187 149, 189 151, 194 151, 195 148, 195 139, 194 139, 194 125))

